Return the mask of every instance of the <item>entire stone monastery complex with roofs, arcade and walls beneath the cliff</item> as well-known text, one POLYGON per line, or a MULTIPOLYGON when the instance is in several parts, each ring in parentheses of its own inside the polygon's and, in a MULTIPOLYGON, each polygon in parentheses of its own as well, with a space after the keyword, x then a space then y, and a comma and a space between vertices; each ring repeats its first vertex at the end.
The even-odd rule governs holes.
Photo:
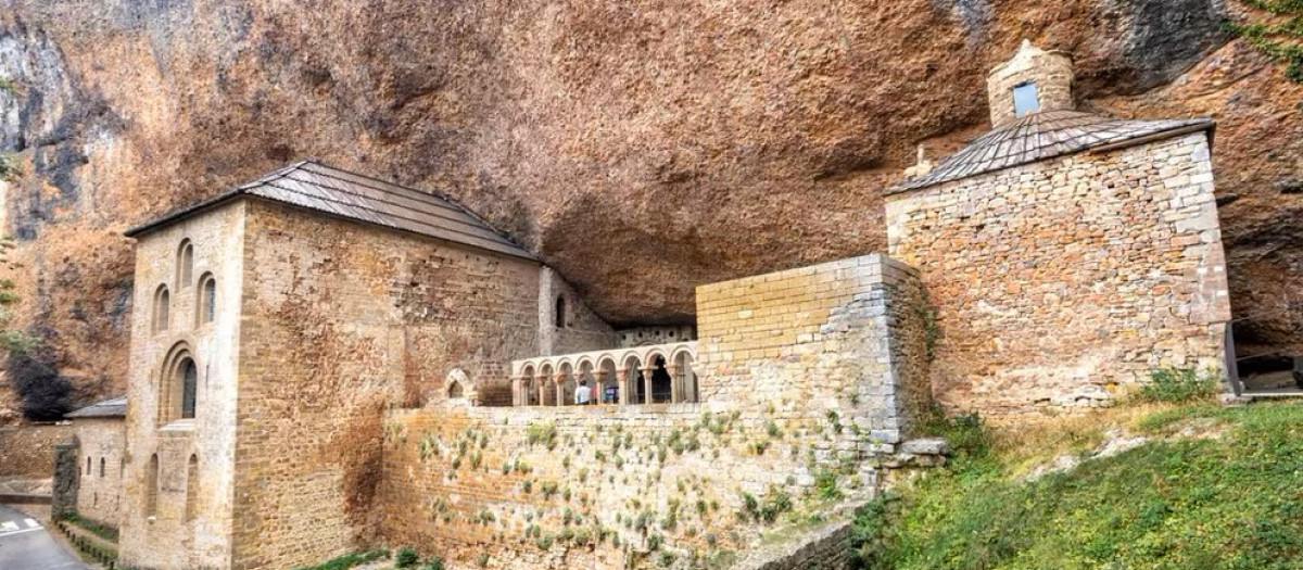
POLYGON ((1014 422, 1224 368, 1213 124, 1071 85, 1024 44, 993 130, 886 191, 885 254, 701 285, 694 328, 615 331, 473 212, 314 161, 132 229, 120 562, 723 560, 816 482, 937 461, 933 402, 1014 422))

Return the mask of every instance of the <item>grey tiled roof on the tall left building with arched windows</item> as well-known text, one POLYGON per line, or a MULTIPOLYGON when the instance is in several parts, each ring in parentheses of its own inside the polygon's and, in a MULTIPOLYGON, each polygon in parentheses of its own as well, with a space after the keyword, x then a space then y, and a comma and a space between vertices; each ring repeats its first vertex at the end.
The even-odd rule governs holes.
POLYGON ((498 232, 474 212, 442 194, 399 186, 311 160, 291 164, 253 182, 169 212, 126 230, 126 236, 138 236, 242 195, 499 254, 536 259, 509 236, 498 232))

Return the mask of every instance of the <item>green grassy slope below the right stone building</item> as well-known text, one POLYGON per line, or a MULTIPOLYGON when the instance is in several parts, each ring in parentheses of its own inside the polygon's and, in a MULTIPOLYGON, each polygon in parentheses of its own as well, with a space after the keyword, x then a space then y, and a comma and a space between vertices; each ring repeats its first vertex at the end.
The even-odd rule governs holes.
POLYGON ((857 514, 861 567, 1303 569, 1303 405, 1147 410, 1127 429, 1154 440, 1035 480, 1025 449, 950 428, 949 468, 857 514))

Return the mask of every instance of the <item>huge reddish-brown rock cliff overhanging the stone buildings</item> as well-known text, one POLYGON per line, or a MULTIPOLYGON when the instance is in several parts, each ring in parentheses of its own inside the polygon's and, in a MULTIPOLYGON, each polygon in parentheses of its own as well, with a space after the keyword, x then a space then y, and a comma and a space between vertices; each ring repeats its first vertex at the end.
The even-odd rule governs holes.
POLYGON ((612 323, 681 323, 693 285, 881 250, 880 190, 986 128, 1022 38, 1075 56, 1084 108, 1218 118, 1237 333, 1303 351, 1303 88, 1222 31, 1234 3, 0 7, 23 324, 85 397, 125 383, 121 230, 288 160, 439 189, 612 323))

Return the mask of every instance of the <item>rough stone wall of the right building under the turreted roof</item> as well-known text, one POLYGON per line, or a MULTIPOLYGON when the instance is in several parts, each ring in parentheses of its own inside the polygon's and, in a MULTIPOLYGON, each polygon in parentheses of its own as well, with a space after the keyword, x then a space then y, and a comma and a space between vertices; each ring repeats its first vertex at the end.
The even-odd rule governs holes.
POLYGON ((1078 154, 887 197, 951 409, 1108 403, 1156 367, 1224 366, 1230 318, 1208 139, 1078 154))

